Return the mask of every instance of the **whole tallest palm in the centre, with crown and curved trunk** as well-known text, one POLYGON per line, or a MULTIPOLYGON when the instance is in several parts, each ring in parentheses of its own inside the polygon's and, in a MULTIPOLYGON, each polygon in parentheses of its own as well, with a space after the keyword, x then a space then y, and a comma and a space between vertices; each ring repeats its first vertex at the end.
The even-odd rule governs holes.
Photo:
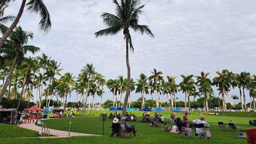
POLYGON ((101 15, 103 22, 108 26, 107 29, 102 29, 99 32, 96 32, 96 37, 107 36, 107 35, 116 35, 118 32, 123 30, 126 41, 126 66, 127 66, 127 89, 125 93, 125 101, 122 110, 122 116, 125 115, 125 109, 128 102, 128 96, 130 93, 130 82, 131 82, 131 72, 129 64, 129 45, 131 51, 134 50, 134 47, 131 42, 131 35, 129 29, 133 29, 135 32, 140 34, 147 34, 151 37, 154 37, 151 30, 146 25, 139 25, 139 16, 142 14, 142 9, 145 5, 140 5, 140 0, 121 0, 120 3, 117 0, 113 0, 113 3, 116 5, 116 15, 110 13, 103 13, 101 15))

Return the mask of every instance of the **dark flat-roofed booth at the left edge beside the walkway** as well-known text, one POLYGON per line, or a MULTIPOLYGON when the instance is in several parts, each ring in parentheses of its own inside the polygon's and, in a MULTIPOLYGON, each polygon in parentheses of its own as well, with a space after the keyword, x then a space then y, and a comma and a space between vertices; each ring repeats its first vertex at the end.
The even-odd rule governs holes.
POLYGON ((4 124, 14 124, 16 119, 15 113, 17 109, 9 109, 9 108, 0 108, 0 123, 4 124))

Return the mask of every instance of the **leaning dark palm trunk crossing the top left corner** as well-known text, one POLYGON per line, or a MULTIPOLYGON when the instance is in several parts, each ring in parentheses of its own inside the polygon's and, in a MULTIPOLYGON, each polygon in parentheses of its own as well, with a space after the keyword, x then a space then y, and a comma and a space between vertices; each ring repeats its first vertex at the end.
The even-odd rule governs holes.
POLYGON ((24 7, 26 4, 26 0, 22 0, 21 6, 20 6, 20 10, 15 18, 15 20, 13 21, 12 25, 9 27, 9 29, 7 29, 7 31, 3 34, 3 36, 1 37, 0 40, 0 47, 3 46, 3 43, 6 41, 7 37, 9 37, 9 35, 12 33, 12 30, 15 28, 15 26, 17 26, 18 22, 20 21, 20 17, 23 13, 24 7))

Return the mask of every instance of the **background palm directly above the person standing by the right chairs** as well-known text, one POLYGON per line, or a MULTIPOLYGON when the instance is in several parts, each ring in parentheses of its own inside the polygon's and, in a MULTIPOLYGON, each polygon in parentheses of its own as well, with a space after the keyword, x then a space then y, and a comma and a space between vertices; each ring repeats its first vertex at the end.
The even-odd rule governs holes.
POLYGON ((189 102, 189 110, 190 110, 190 101, 189 101, 189 90, 194 88, 194 84, 195 81, 192 79, 193 75, 181 75, 181 78, 183 78, 183 80, 180 82, 179 86, 180 89, 179 91, 182 91, 182 93, 185 93, 185 110, 186 110, 186 98, 188 96, 188 102, 189 102))

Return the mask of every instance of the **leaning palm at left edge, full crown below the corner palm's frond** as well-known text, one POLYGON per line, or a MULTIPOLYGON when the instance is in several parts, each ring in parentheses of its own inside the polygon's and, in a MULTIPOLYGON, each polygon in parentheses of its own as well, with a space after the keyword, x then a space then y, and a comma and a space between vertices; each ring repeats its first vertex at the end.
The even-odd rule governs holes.
MULTIPOLYGON (((2 25, 1 32, 5 30, 6 27, 2 25)), ((4 45, 4 47, 6 46, 13 49, 15 57, 12 62, 11 69, 9 70, 9 75, 6 78, 6 81, 3 84, 3 89, 0 93, 0 103, 2 101, 4 93, 6 92, 8 82, 12 80, 12 74, 16 64, 21 63, 21 61, 24 59, 24 55, 26 55, 27 52, 32 52, 32 54, 34 54, 35 52, 38 52, 40 50, 38 47, 26 45, 29 38, 33 39, 33 33, 25 32, 20 26, 18 26, 15 28, 15 31, 12 32, 12 35, 10 35, 8 42, 4 45)))

